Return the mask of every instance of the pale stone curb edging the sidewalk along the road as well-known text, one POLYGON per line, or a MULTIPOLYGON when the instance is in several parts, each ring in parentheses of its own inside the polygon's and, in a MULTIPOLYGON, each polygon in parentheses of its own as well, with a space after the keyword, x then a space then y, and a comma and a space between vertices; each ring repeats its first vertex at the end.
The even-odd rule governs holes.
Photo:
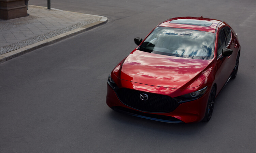
POLYGON ((4 53, 4 54, 0 55, 0 63, 3 63, 5 61, 9 61, 12 58, 15 58, 15 57, 23 55, 25 53, 31 52, 33 50, 39 49, 41 47, 54 44, 57 41, 63 40, 65 38, 71 37, 71 36, 79 34, 79 33, 82 33, 84 31, 88 31, 90 29, 101 26, 102 24, 105 24, 106 22, 108 22, 108 18, 103 17, 103 16, 98 16, 98 17, 101 17, 102 19, 97 21, 97 22, 90 23, 90 24, 88 24, 84 27, 80 27, 80 28, 68 31, 66 33, 62 33, 60 35, 57 35, 57 36, 39 41, 37 43, 31 44, 31 45, 28 45, 28 46, 25 46, 23 48, 19 48, 17 50, 11 51, 11 52, 4 53))

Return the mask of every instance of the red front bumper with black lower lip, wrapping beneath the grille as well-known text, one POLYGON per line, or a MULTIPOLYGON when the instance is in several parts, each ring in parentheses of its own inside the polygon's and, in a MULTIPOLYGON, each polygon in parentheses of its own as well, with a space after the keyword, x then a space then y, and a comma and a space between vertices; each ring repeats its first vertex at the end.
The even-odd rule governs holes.
MULTIPOLYGON (((148 86, 148 85, 145 85, 148 86)), ((116 95, 116 92, 107 85, 106 103, 115 111, 126 113, 132 116, 141 118, 168 122, 168 123, 191 123, 200 122, 204 115, 208 102, 209 91, 194 101, 185 102, 179 104, 172 112, 169 113, 148 113, 138 111, 137 109, 131 108, 123 104, 116 95)))

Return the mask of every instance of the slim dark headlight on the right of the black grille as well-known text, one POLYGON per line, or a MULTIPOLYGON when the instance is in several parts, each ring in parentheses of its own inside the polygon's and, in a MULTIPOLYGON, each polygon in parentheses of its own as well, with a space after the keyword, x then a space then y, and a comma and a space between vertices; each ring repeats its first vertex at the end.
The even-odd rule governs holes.
POLYGON ((206 90, 207 90, 207 86, 198 91, 191 92, 189 94, 182 95, 179 97, 175 97, 174 99, 176 99, 179 103, 193 101, 193 100, 196 100, 196 99, 202 97, 206 90))

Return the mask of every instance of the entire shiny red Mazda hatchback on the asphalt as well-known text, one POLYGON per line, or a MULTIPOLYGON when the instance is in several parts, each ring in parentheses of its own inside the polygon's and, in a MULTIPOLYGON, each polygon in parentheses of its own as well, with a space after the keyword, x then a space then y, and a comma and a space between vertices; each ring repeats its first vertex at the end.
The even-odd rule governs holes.
POLYGON ((142 118, 209 121, 214 100, 238 71, 240 44, 224 21, 178 17, 160 23, 110 73, 106 103, 142 118))

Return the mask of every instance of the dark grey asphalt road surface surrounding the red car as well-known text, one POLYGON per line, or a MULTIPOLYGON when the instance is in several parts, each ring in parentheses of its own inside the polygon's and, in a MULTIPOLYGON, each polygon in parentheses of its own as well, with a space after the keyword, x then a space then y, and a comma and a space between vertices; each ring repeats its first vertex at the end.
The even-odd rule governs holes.
MULTIPOLYGON (((255 0, 55 0, 107 24, 0 64, 0 152, 256 152, 255 0), (239 36, 237 78, 208 123, 168 124, 112 111, 106 79, 161 21, 203 15, 239 36)), ((47 6, 47 1, 30 0, 47 6)))

